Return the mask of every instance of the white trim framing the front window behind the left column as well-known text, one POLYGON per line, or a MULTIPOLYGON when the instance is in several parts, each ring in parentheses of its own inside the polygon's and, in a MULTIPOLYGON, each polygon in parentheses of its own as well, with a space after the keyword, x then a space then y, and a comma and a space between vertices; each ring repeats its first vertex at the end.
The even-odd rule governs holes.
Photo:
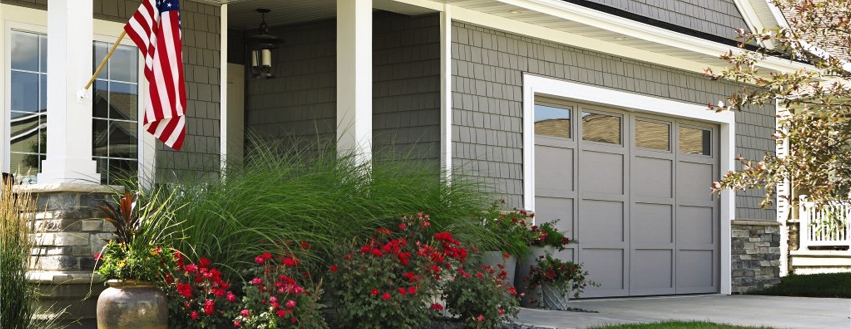
MULTIPOLYGON (((124 25, 108 20, 94 20, 94 35, 93 41, 114 43, 117 36, 123 31, 124 25)), ((47 34, 48 28, 48 12, 46 10, 31 9, 10 4, 0 4, 0 46, 4 49, 0 52, 0 63, 3 65, 3 79, 0 79, 0 90, 3 90, 3 116, 0 120, 0 136, 3 136, 3 143, 0 143, 0 164, 3 165, 3 171, 9 172, 9 135, 7 126, 9 125, 9 110, 11 109, 11 99, 7 96, 11 93, 11 47, 9 44, 9 36, 12 30, 31 31, 34 33, 47 34)), ((134 46, 134 43, 129 38, 124 38, 121 44, 134 46)), ((156 156, 157 147, 156 139, 150 133, 146 133, 143 127, 145 114, 145 95, 148 90, 148 83, 144 78, 143 68, 144 61, 141 60, 139 53, 139 90, 138 90, 138 108, 139 108, 139 179, 143 186, 150 186, 156 174, 156 156)), ((94 73, 94 68, 92 68, 94 73)), ((48 72, 49 74, 49 72, 48 72)), ((81 86, 85 82, 80 82, 81 86)), ((91 93, 89 93, 91 94, 91 93)))

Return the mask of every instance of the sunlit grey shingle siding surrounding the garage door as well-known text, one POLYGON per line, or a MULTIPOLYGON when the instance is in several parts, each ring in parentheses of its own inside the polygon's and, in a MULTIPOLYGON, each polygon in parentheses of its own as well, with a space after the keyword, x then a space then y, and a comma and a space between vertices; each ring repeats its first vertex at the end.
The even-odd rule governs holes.
MULTIPOLYGON (((453 163, 523 207, 523 73, 706 104, 733 82, 459 22, 453 23, 453 163)), ((774 107, 736 113, 736 153, 774 150, 774 107)), ((737 218, 774 219, 758 191, 737 195, 737 218)))

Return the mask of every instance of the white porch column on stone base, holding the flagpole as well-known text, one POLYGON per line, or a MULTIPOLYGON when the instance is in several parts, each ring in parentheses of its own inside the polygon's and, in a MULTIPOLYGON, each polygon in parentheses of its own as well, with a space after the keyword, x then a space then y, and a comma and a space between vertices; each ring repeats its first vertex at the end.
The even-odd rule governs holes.
POLYGON ((48 4, 48 150, 39 184, 100 184, 92 160, 92 99, 77 99, 92 76, 92 3, 48 4))

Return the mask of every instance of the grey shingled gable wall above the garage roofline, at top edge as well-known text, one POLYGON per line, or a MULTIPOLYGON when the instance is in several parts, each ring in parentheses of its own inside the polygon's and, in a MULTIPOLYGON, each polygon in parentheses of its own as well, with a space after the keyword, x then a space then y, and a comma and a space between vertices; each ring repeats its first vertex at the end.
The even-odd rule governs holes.
POLYGON ((748 27, 733 0, 587 1, 731 40, 737 36, 734 29, 748 27))

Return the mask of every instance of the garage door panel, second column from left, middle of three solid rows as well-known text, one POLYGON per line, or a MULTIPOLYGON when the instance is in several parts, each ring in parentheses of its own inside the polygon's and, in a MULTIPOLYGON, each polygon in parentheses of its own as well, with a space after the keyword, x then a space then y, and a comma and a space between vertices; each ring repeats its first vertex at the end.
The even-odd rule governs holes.
MULTIPOLYGON (((624 202, 583 200, 580 205, 580 234, 590 243, 608 243, 625 241, 624 202)), ((585 243, 585 242, 583 242, 585 243)))

